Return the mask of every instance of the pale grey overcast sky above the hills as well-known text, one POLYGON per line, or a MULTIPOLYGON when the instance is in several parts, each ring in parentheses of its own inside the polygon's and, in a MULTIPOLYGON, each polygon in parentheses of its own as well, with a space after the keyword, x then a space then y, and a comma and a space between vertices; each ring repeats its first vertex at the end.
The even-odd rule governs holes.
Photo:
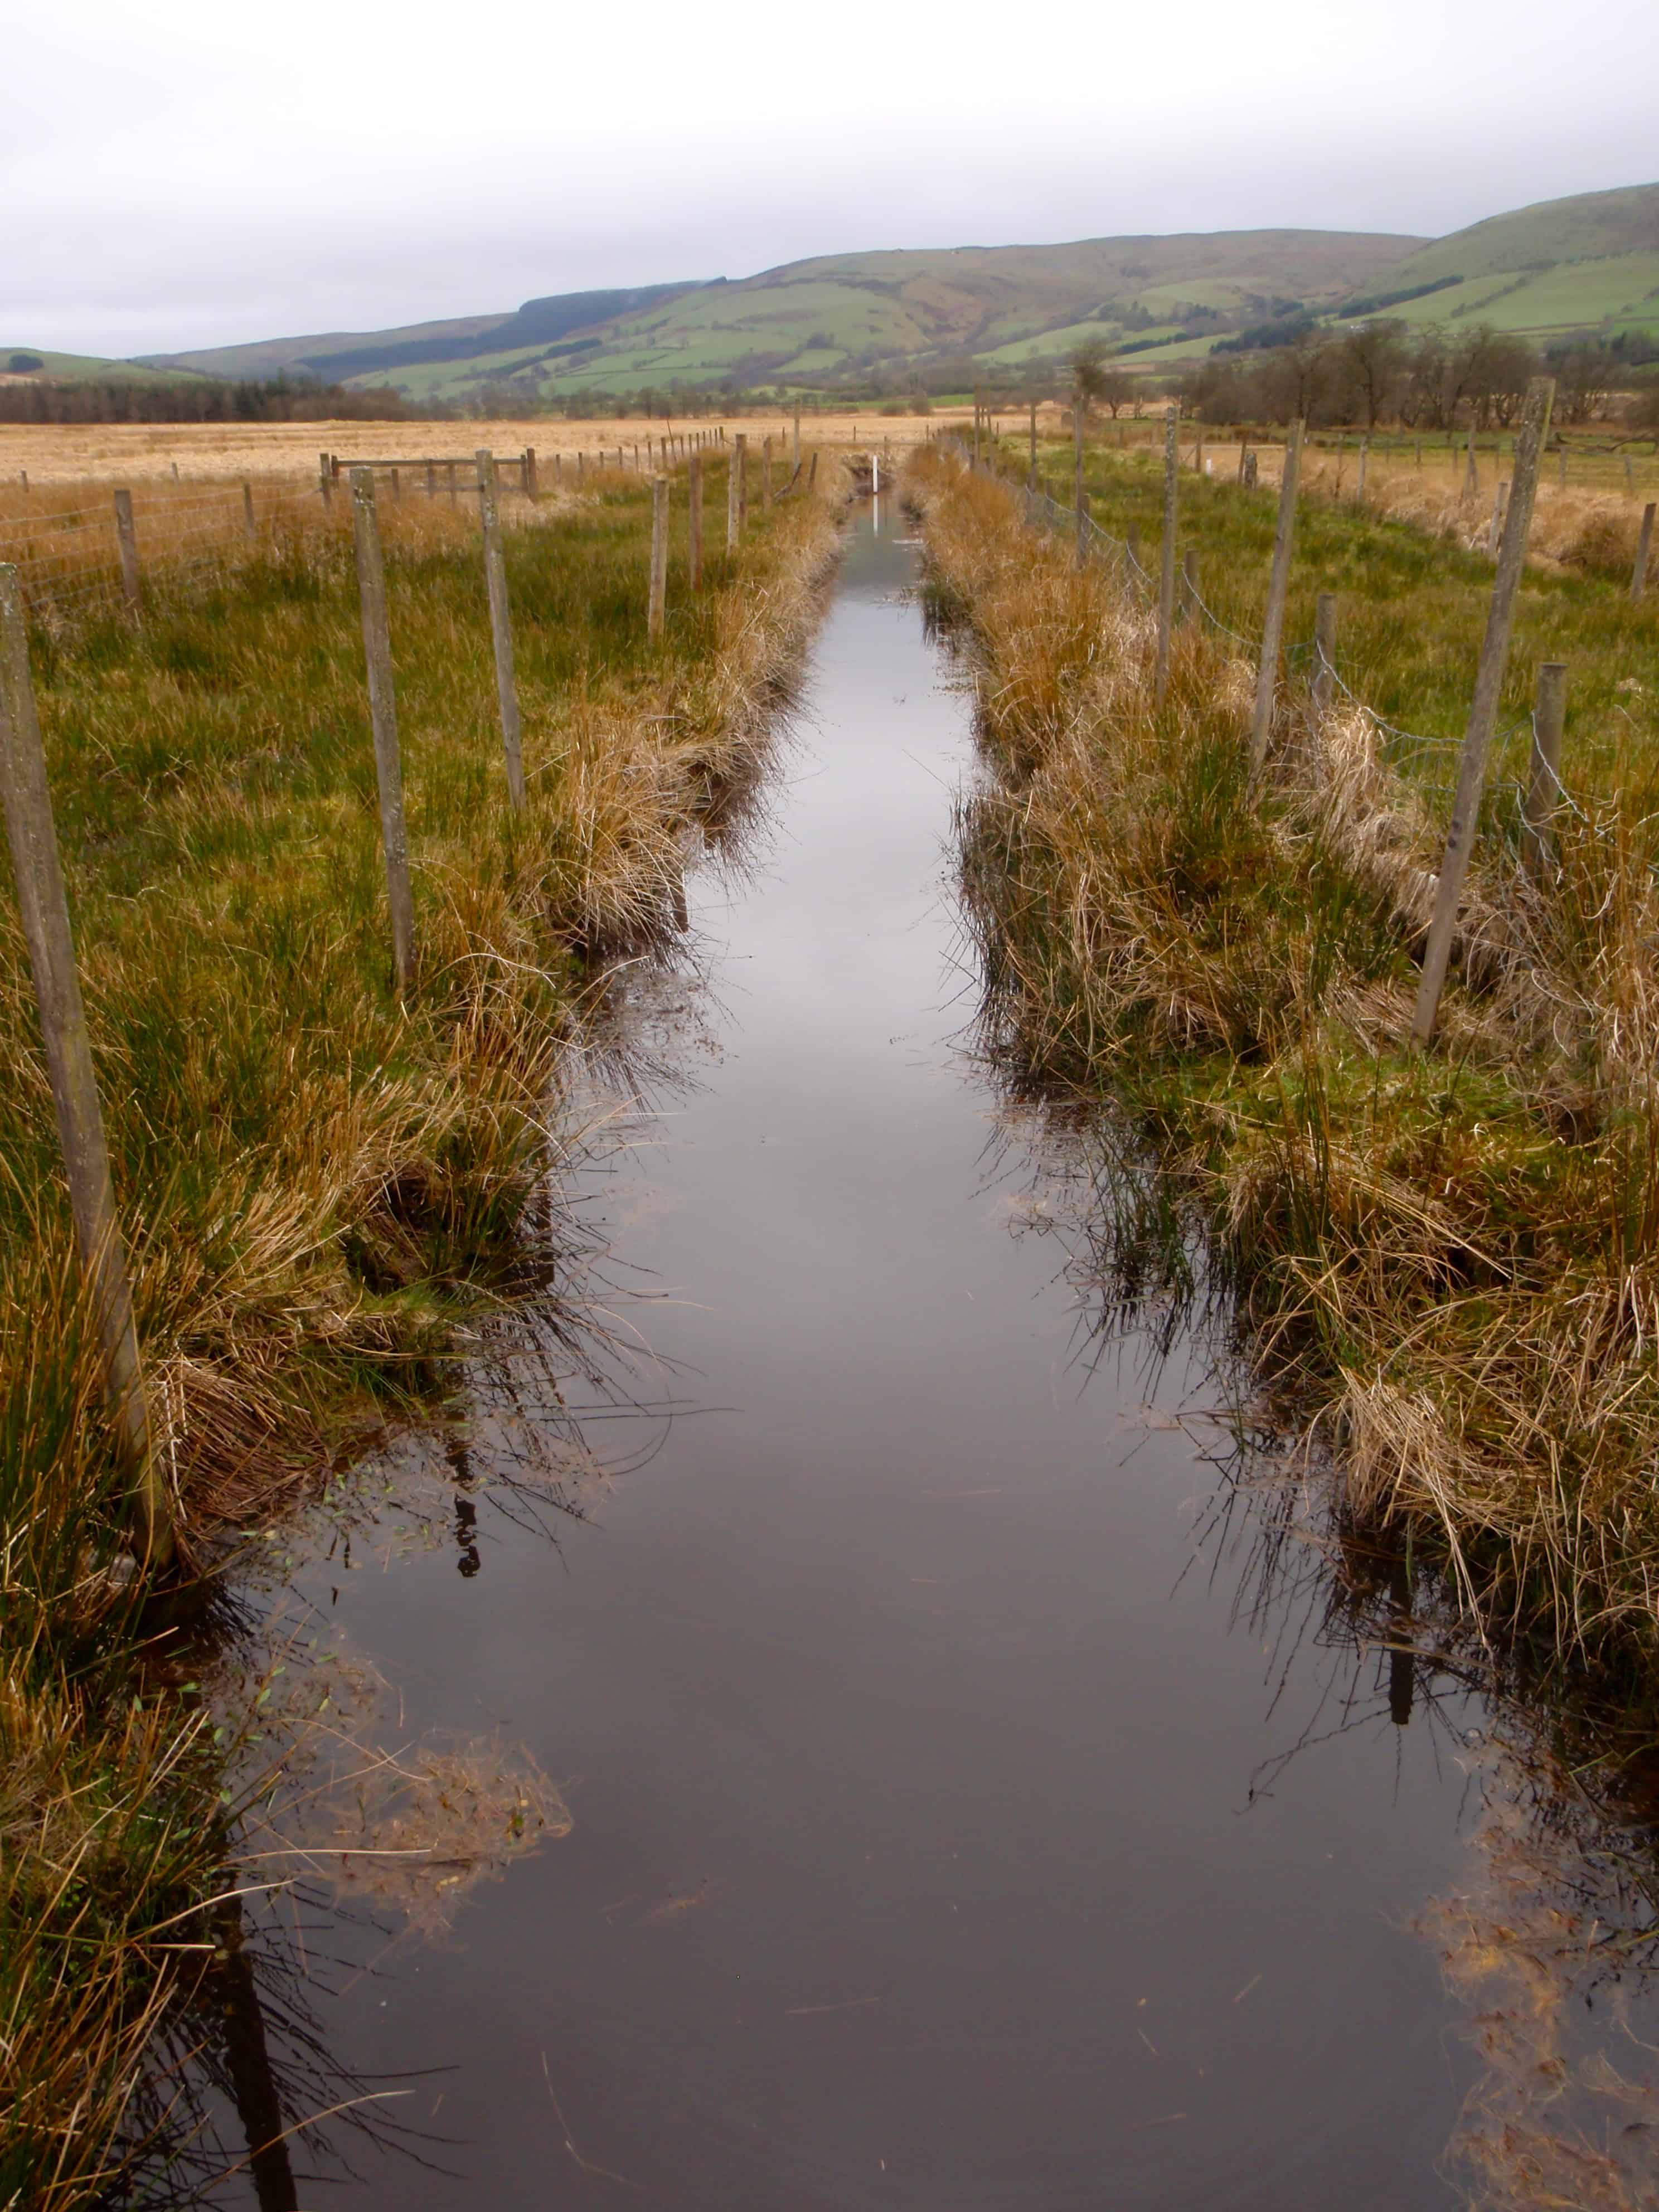
POLYGON ((13 7, 0 343, 376 330, 869 246, 1440 234, 1659 179, 1657 0, 832 18, 13 7))

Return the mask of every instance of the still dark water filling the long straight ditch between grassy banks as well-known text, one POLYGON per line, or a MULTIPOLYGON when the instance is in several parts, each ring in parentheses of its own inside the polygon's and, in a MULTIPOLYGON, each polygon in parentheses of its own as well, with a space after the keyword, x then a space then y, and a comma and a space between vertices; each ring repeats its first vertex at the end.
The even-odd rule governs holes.
POLYGON ((332 2062, 429 2141, 299 2146, 299 2203, 1453 2201, 1409 1922, 1467 1781, 1316 1595, 1241 1613, 1206 1347, 1079 1336, 960 1048, 969 703, 900 529, 856 522, 757 869, 692 883, 708 982, 639 1015, 684 1082, 599 1203, 681 1411, 593 1431, 639 1464, 557 1544, 484 1493, 305 1577, 400 1741, 522 1741, 573 1832, 447 1947, 312 1920, 332 2062))

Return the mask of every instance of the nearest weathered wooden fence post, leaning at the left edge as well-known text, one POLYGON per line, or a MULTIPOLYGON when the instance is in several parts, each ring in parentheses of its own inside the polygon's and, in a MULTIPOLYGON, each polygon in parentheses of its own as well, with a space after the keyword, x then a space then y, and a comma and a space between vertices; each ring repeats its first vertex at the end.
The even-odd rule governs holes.
POLYGON ((35 690, 29 679, 29 633, 18 571, 0 566, 0 792, 18 876, 18 907, 35 978, 40 1033, 46 1046, 58 1144, 69 1179, 75 1250, 91 1294, 104 1363, 104 1391, 119 1455, 133 1484, 137 1540, 150 1566, 173 1559, 173 1502, 157 1462, 139 1374, 133 1290, 108 1172, 104 1115, 93 1046, 75 973, 64 869, 51 814, 46 754, 40 745, 35 690))

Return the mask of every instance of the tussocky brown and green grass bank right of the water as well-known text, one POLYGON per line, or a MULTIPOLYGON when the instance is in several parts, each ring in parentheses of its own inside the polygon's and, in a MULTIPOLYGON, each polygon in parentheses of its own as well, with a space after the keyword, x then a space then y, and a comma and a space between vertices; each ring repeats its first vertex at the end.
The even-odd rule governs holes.
MULTIPOLYGON (((1493 823, 1440 1046, 1416 1055, 1438 794, 1376 721, 1298 706, 1252 803, 1243 655, 1183 626, 1157 710, 1150 617, 1106 566, 1075 571, 1004 487, 947 458, 911 487, 1000 768, 964 818, 995 1042, 1033 1077, 1113 1095, 1157 1144, 1263 1378, 1340 1442, 1356 1511, 1438 1546, 1489 1628, 1659 1659, 1646 728, 1608 714, 1586 745, 1595 776, 1544 889, 1493 823)), ((1394 557, 1413 591, 1436 562, 1447 599, 1464 588, 1453 549, 1394 557)), ((1345 573, 1360 591, 1352 557, 1345 573)), ((1398 681, 1429 697, 1447 624, 1413 633, 1389 580, 1354 628, 1391 626, 1398 681)), ((1628 604, 1562 588, 1566 613, 1535 604, 1535 628, 1626 637, 1628 604)), ((1610 648, 1586 695, 1617 697, 1626 668, 1610 648)))

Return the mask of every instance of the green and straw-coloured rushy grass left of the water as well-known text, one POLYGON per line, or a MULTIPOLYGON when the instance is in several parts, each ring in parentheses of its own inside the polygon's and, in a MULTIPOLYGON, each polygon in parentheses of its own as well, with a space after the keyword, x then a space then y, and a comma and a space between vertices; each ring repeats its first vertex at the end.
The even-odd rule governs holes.
MULTIPOLYGON (((529 801, 507 807, 476 522, 392 533, 418 982, 392 989, 349 524, 312 518, 142 626, 33 635, 60 845, 186 1557, 422 1413, 531 1298, 584 967, 675 922, 684 838, 748 774, 834 546, 754 513, 646 644, 630 476, 509 533, 529 801)), ((139 1610, 71 1265, 20 927, 0 907, 0 2201, 88 2201, 146 2031, 206 1971, 234 1840, 168 1615, 139 1610)))

